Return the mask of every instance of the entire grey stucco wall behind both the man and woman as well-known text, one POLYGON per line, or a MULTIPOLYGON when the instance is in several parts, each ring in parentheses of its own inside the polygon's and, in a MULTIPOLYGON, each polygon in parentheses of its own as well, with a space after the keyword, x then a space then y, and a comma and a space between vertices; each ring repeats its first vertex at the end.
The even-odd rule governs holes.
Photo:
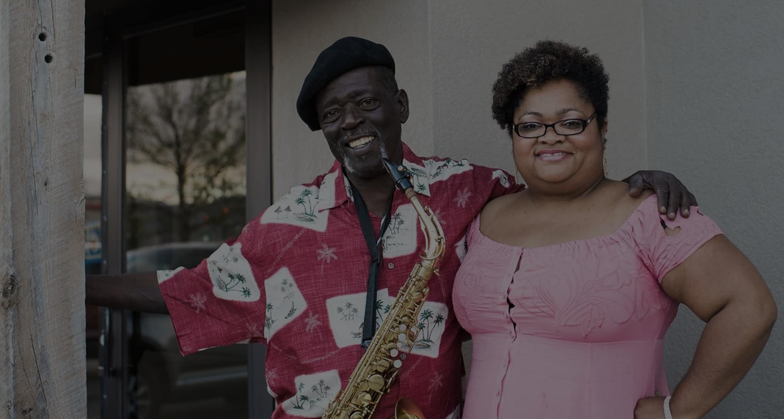
MULTIPOLYGON (((622 179, 673 172, 768 281, 784 311, 784 3, 778 0, 273 3, 274 195, 325 172, 321 132, 299 120, 299 88, 321 49, 356 35, 387 45, 411 99, 404 140, 422 155, 514 171, 490 117, 492 82, 539 39, 586 46, 610 74, 608 161, 622 179)), ((682 307, 665 343, 670 388, 704 327, 682 307)), ((470 345, 466 346, 470 354, 470 345)), ((784 417, 784 323, 710 418, 784 417)), ((470 356, 469 356, 470 359, 470 356)))

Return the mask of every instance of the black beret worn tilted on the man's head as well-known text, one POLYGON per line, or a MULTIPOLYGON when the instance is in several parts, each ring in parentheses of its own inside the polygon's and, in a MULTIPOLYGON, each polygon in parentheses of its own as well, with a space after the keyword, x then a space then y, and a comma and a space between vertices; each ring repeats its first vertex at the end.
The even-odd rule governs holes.
POLYGON ((311 131, 321 129, 314 103, 318 92, 340 75, 367 66, 389 67, 394 73, 394 60, 387 47, 363 38, 340 38, 318 54, 296 99, 297 114, 311 131))

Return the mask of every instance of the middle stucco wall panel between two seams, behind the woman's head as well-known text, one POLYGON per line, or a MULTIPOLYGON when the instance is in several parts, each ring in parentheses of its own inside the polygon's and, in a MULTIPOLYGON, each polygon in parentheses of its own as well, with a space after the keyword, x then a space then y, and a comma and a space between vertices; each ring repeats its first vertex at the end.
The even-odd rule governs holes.
POLYGON ((642 8, 638 0, 596 2, 430 2, 434 146, 514 172, 511 143, 490 114, 503 63, 540 39, 583 45, 610 74, 611 175, 645 166, 642 8), (564 10, 568 10, 564 13, 564 10))

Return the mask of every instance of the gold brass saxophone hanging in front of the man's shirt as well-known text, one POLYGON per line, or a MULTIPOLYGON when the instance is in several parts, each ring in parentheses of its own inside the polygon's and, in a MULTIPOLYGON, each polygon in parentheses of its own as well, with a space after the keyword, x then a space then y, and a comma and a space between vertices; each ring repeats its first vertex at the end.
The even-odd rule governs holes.
MULTIPOLYGON (((383 162, 394 178, 395 186, 405 193, 419 217, 425 236, 424 253, 397 293, 387 317, 351 373, 346 388, 329 403, 323 419, 368 419, 372 416, 381 397, 389 392, 397 378, 403 360, 414 347, 419 334, 417 318, 430 291, 427 282, 434 273, 438 274, 438 264, 444 257, 444 230, 430 207, 419 202, 408 170, 386 158, 383 162), (404 353, 405 345, 408 345, 408 351, 404 353)), ((416 403, 405 398, 397 401, 393 418, 425 419, 416 403)))

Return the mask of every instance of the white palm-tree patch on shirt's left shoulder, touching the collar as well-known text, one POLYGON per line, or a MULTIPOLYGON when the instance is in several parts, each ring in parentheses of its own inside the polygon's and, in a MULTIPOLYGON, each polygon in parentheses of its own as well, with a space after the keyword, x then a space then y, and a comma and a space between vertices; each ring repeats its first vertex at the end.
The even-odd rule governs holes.
POLYGON ((307 227, 324 233, 329 211, 335 201, 335 180, 338 172, 331 172, 318 186, 294 186, 261 216, 262 224, 289 224, 307 227))

